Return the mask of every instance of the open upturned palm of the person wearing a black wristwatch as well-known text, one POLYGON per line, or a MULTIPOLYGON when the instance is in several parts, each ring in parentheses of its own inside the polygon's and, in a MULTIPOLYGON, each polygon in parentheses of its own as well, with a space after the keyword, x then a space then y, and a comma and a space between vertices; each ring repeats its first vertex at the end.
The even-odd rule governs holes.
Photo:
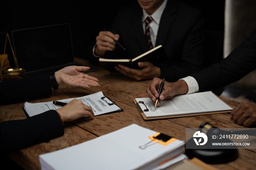
POLYGON ((58 84, 64 83, 70 86, 90 87, 99 85, 97 78, 82 73, 82 71, 89 69, 90 67, 85 66, 67 66, 55 72, 56 81, 58 84))

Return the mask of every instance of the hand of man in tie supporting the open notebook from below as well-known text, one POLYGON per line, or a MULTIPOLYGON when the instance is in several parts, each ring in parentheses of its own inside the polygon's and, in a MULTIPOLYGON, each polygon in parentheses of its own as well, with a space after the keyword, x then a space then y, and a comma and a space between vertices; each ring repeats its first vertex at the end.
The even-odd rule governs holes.
POLYGON ((159 77, 161 71, 159 67, 154 66, 151 62, 139 62, 138 66, 140 69, 131 69, 123 65, 118 65, 115 69, 123 73, 127 77, 131 77, 135 80, 148 80, 154 77, 159 77))

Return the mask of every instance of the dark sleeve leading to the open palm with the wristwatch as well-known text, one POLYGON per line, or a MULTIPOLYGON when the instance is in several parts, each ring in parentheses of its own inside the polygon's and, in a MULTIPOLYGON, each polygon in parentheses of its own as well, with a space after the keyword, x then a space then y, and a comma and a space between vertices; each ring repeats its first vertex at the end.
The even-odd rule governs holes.
POLYGON ((52 94, 49 74, 0 82, 0 103, 10 104, 52 94))

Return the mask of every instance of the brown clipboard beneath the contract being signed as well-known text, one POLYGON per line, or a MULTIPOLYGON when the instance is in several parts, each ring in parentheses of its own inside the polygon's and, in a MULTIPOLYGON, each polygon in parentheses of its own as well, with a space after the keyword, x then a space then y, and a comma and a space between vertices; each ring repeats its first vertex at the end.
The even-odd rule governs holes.
MULTIPOLYGON (((214 93, 213 93, 214 94, 214 93)), ((217 96, 216 94, 214 94, 217 96)), ((222 100, 219 96, 217 96, 221 101, 223 101, 226 105, 231 107, 229 104, 227 104, 224 100, 222 100)), ((135 106, 137 107, 138 111, 142 115, 144 120, 157 120, 157 119, 170 119, 170 118, 177 118, 177 117, 188 117, 188 116, 200 116, 200 115, 211 115, 211 114, 219 114, 219 113, 230 113, 230 111, 218 111, 218 112, 205 112, 205 113, 192 113, 192 114, 185 114, 185 115, 174 115, 174 116, 162 116, 162 117, 146 117, 144 112, 141 111, 139 104, 134 99, 133 102, 135 103, 135 106)), ((234 108, 234 107, 231 107, 234 108)))

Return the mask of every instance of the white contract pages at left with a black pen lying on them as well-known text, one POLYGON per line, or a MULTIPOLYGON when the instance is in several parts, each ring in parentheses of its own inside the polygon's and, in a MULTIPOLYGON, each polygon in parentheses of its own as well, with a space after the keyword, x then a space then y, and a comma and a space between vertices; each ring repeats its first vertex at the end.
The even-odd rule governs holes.
MULTIPOLYGON (((110 101, 108 98, 105 97, 103 100, 101 97, 104 97, 103 93, 97 92, 87 96, 78 97, 76 99, 81 100, 85 105, 90 106, 93 109, 95 116, 121 110, 121 108, 118 107, 116 104, 109 105, 109 103, 112 103, 112 101, 110 101)), ((61 101, 63 103, 69 103, 73 99, 74 98, 68 98, 68 99, 58 100, 58 101, 61 101)), ((49 111, 49 110, 56 110, 59 108, 61 107, 54 105, 53 101, 44 102, 44 103, 26 102, 24 107, 24 109, 26 110, 27 114, 30 117, 49 111)))

